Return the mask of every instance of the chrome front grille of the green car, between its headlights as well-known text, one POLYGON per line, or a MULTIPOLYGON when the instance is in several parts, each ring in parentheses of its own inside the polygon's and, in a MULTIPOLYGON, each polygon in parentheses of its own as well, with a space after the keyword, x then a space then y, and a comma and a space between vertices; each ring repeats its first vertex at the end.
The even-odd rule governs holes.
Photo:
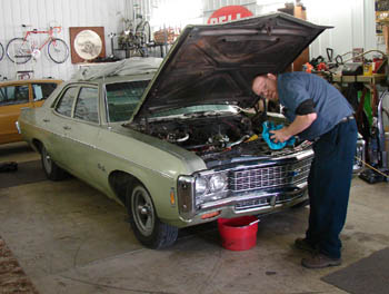
POLYGON ((311 161, 312 157, 283 165, 232 170, 229 189, 245 192, 298 184, 307 179, 311 161))

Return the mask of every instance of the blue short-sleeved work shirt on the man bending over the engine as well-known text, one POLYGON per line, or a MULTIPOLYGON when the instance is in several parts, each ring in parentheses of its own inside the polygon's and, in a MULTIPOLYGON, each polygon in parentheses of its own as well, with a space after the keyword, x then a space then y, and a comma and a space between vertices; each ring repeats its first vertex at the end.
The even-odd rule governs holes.
POLYGON ((298 134, 301 139, 315 140, 331 130, 340 120, 353 114, 341 92, 327 80, 303 71, 278 76, 278 98, 289 121, 296 119, 296 109, 308 99, 313 100, 317 119, 298 134))

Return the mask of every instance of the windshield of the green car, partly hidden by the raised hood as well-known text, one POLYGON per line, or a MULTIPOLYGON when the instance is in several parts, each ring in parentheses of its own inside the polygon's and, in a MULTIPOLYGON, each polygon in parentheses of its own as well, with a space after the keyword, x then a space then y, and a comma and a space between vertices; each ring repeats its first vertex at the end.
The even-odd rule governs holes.
POLYGON ((126 121, 137 108, 149 80, 106 85, 109 121, 126 121))

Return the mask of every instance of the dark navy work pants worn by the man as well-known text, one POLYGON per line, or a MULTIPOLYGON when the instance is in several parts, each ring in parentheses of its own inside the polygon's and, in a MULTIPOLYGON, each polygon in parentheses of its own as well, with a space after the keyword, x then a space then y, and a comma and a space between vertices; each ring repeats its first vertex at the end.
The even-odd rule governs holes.
POLYGON ((332 258, 340 257, 339 234, 346 222, 356 144, 355 119, 336 125, 313 144, 307 239, 332 258))

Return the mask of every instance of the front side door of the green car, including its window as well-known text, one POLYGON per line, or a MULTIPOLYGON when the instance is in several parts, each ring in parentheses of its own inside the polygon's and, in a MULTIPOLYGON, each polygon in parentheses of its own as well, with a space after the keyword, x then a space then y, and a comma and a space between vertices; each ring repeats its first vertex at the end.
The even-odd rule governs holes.
POLYGON ((68 153, 63 154, 66 165, 76 176, 94 185, 92 173, 99 170, 96 160, 96 139, 100 129, 97 86, 80 87, 72 117, 67 121, 66 128, 68 149, 68 153))

